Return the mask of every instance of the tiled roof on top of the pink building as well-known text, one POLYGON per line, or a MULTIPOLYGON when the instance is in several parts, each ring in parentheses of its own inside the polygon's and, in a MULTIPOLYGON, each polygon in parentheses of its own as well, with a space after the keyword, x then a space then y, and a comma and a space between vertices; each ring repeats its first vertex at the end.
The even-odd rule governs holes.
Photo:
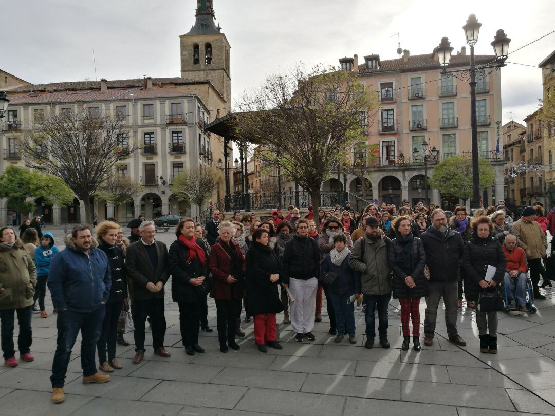
MULTIPOLYGON (((485 64, 495 60, 495 55, 475 56, 476 64, 485 64)), ((451 55, 450 67, 463 67, 465 65, 470 65, 470 55, 451 55)), ((379 69, 366 68, 366 62, 359 65, 359 73, 361 74, 374 74, 390 71, 412 72, 426 69, 440 69, 437 61, 433 60, 433 54, 412 55, 408 57, 407 62, 403 61, 403 57, 381 60, 379 69)))

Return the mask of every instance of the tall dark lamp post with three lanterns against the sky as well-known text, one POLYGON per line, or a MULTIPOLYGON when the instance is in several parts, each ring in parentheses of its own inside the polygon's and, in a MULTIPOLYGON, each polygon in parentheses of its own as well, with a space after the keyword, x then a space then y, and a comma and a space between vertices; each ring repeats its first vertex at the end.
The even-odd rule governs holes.
POLYGON ((456 69, 447 70, 451 60, 451 52, 453 52, 453 47, 449 40, 444 37, 441 39, 441 43, 436 47, 436 53, 438 58, 438 63, 442 70, 442 74, 452 74, 457 79, 470 80, 470 114, 471 114, 471 129, 472 129, 472 189, 473 189, 473 207, 480 207, 480 170, 478 168, 478 123, 476 119, 476 77, 483 79, 486 78, 489 73, 486 74, 485 69, 492 68, 493 70, 500 70, 505 66, 504 62, 507 59, 509 42, 511 39, 507 38, 507 35, 503 29, 499 29, 493 42, 491 43, 493 50, 495 51, 496 59, 487 64, 476 66, 476 59, 474 56, 474 45, 478 42, 478 34, 480 33, 480 27, 482 23, 479 23, 476 19, 475 14, 468 16, 463 30, 466 35, 466 42, 470 45, 470 67, 467 69, 456 69), (455 74, 460 74, 457 77, 455 74))

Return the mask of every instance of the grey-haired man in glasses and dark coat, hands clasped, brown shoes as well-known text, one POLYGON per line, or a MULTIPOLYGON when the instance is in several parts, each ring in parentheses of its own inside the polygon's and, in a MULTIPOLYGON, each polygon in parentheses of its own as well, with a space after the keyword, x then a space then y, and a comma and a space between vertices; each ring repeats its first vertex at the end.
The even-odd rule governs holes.
POLYGON ((139 226, 141 239, 127 247, 126 265, 131 293, 131 313, 135 331, 135 357, 133 364, 143 361, 144 325, 147 316, 151 318, 152 345, 154 353, 168 358, 170 353, 164 348, 166 318, 164 317, 164 285, 168 272, 168 247, 154 240, 154 222, 143 221, 139 226))

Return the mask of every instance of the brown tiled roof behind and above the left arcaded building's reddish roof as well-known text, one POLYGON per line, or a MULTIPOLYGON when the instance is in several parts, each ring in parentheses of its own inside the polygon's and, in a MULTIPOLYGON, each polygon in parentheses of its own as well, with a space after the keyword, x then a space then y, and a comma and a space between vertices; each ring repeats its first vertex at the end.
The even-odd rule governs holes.
MULTIPOLYGON (((133 88, 143 85, 143 78, 134 79, 118 79, 109 80, 107 82, 108 88, 133 88)), ((169 78, 153 78, 152 84, 189 84, 189 83, 205 83, 208 81, 198 81, 182 77, 169 77, 169 78)), ((36 84, 24 85, 23 87, 14 88, 12 93, 27 93, 32 91, 66 91, 66 90, 83 90, 83 89, 100 89, 100 81, 69 81, 69 82, 54 82, 49 84, 36 84)))

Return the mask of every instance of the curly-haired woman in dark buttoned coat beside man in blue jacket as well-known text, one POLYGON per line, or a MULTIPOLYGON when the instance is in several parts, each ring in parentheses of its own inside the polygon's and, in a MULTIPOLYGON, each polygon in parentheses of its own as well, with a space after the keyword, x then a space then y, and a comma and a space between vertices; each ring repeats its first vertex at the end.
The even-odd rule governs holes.
POLYGON ((118 338, 118 321, 123 301, 127 298, 127 268, 123 250, 116 245, 119 225, 112 221, 102 221, 97 227, 98 248, 104 251, 110 262, 110 297, 106 302, 102 332, 97 341, 100 370, 112 373, 123 368, 115 358, 115 344, 118 338), (108 359, 106 352, 108 351, 108 359))

